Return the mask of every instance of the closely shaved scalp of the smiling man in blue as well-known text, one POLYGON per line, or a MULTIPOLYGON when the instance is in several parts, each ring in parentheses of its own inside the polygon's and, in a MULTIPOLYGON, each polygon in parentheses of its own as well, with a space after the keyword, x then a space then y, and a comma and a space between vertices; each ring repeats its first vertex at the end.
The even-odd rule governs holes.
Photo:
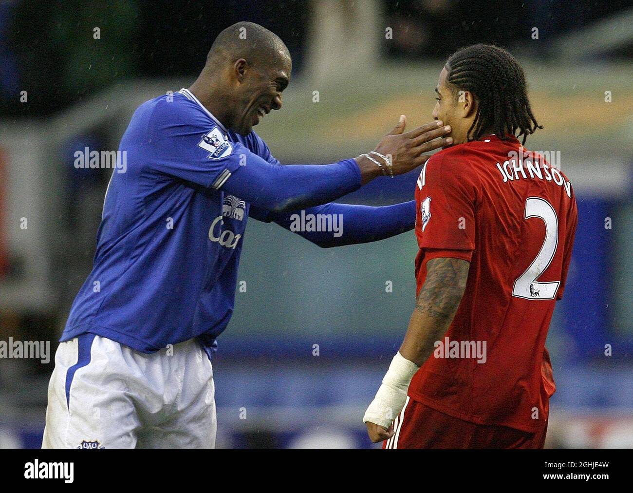
POLYGON ((237 22, 218 34, 206 57, 207 65, 234 63, 244 58, 253 67, 270 67, 290 60, 290 52, 280 37, 253 22, 237 22))

